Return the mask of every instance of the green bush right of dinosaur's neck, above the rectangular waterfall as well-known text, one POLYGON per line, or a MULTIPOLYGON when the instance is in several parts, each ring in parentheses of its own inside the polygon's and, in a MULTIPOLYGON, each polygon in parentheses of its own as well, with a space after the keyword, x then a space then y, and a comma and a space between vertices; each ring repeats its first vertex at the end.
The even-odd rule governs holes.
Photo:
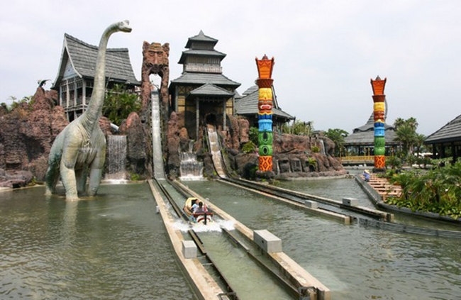
POLYGON ((112 123, 120 125, 131 112, 139 111, 140 108, 138 95, 128 93, 123 84, 115 84, 113 89, 106 93, 102 114, 112 123))

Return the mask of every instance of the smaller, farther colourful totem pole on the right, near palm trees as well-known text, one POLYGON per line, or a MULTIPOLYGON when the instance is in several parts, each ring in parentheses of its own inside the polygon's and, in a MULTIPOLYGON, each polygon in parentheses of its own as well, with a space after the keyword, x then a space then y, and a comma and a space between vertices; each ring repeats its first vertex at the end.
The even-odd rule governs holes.
POLYGON ((376 77, 371 79, 373 89, 374 118, 374 170, 384 171, 386 167, 386 141, 384 139, 384 122, 386 121, 386 95, 384 87, 386 79, 376 77))

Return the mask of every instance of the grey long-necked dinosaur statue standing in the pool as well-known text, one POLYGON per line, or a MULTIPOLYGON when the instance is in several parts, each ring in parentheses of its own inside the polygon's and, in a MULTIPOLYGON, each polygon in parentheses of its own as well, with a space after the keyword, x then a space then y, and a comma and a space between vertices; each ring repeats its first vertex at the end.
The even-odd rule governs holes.
POLYGON ((88 108, 79 118, 69 123, 52 144, 45 175, 47 195, 55 193, 60 177, 68 201, 78 200, 78 194, 86 191, 88 175, 88 196, 94 196, 98 191, 106 160, 106 137, 99 127, 106 85, 106 49, 109 37, 117 31, 129 33, 131 31, 129 21, 113 23, 101 36, 94 74, 94 89, 88 108))

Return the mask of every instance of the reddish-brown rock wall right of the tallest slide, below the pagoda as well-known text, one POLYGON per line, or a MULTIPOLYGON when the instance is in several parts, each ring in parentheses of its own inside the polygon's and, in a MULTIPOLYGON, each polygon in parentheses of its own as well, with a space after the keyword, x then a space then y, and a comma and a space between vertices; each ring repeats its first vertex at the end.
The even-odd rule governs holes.
MULTIPOLYGON (((172 114, 168 130, 168 164, 170 177, 179 177, 179 151, 187 151, 189 136, 184 127, 184 115, 172 114)), ((223 145, 224 160, 228 173, 251 178, 259 165, 257 151, 243 153, 242 146, 248 143, 250 125, 245 118, 228 116, 227 131, 218 131, 223 145)), ((218 128, 219 129, 219 128, 218 128)), ((203 133, 204 130, 199 130, 203 133)), ((211 155, 204 150, 204 137, 199 136, 194 143, 197 157, 204 162, 204 176, 215 177, 211 155)), ((288 179, 296 177, 339 176, 347 172, 343 165, 333 157, 334 143, 321 135, 312 137, 302 135, 279 134, 274 132, 273 172, 275 178, 288 179)))

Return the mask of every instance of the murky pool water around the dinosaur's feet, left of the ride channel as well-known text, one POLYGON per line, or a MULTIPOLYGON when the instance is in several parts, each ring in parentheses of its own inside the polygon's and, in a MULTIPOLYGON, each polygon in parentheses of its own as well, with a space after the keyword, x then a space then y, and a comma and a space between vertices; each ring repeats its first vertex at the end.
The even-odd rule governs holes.
POLYGON ((0 194, 1 299, 195 299, 147 184, 75 202, 0 194))

